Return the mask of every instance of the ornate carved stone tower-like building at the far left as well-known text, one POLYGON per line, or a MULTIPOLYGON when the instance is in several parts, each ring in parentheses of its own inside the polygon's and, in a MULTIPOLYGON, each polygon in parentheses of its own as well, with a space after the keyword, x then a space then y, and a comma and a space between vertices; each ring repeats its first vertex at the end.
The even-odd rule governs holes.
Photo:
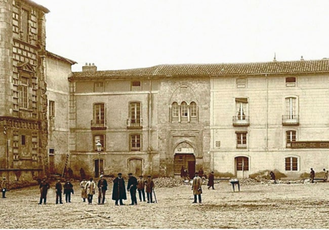
POLYGON ((45 14, 28 0, 0 2, 0 170, 8 180, 48 171, 45 14))

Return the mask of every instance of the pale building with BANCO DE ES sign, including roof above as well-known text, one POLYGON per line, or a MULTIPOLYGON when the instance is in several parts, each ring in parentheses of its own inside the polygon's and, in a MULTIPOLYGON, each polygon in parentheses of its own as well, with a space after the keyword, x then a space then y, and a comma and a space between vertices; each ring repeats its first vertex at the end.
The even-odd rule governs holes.
POLYGON ((211 168, 288 177, 329 166, 329 60, 221 65, 211 76, 211 168))

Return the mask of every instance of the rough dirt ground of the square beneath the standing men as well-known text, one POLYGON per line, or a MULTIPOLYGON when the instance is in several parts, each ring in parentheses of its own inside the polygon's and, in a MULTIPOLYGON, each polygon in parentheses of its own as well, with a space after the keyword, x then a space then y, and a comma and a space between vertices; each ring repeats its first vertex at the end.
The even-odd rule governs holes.
MULTIPOLYGON (((47 205, 38 205, 37 186, 7 192, 0 199, 1 228, 328 228, 329 182, 241 186, 228 181, 202 187, 202 203, 192 204, 189 185, 155 188, 157 203, 115 206, 112 184, 105 205, 83 203, 78 183, 72 203, 55 204, 55 184, 47 205)), ((65 197, 64 197, 65 200, 65 197)))

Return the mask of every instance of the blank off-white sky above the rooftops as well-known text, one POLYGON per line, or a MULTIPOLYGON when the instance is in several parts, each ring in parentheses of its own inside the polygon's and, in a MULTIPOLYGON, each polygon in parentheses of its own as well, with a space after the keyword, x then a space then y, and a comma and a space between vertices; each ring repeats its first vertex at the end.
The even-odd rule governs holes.
POLYGON ((33 0, 46 49, 97 70, 329 58, 327 0, 33 0))

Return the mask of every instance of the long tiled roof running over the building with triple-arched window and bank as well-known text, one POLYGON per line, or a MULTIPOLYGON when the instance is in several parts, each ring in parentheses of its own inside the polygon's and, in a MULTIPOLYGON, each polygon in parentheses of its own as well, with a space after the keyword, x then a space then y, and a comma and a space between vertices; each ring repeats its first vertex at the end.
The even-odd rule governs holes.
POLYGON ((257 74, 299 74, 329 72, 329 59, 312 61, 223 63, 223 64, 177 64, 158 65, 149 68, 74 72, 71 78, 98 77, 148 77, 148 76, 225 76, 257 74))

